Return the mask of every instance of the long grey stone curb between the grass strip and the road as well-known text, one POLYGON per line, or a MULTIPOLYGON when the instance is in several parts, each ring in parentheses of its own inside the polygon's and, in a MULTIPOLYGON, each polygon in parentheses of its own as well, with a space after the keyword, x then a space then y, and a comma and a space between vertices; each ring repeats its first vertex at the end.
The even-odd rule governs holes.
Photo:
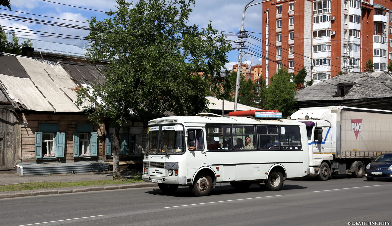
POLYGON ((129 184, 116 184, 116 185, 94 185, 94 186, 0 192, 0 199, 67 194, 67 193, 77 193, 77 192, 95 192, 95 191, 118 190, 118 189, 129 189, 129 188, 148 188, 148 187, 158 187, 158 183, 146 182, 146 183, 133 183, 133 184, 129 183, 129 184))

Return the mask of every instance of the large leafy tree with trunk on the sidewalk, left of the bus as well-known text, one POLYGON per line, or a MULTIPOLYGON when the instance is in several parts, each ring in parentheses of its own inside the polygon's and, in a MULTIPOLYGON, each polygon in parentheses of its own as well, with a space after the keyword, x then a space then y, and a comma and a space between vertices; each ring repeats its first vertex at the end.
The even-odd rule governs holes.
MULTIPOLYGON (((194 0, 116 0, 109 18, 90 20, 89 57, 107 59, 102 86, 89 98, 89 117, 110 119, 113 134, 113 178, 120 178, 120 127, 131 116, 146 122, 170 111, 193 115, 207 109, 205 96, 225 79, 221 68, 231 49, 226 37, 212 29, 187 25, 194 0), (214 84, 211 86, 211 84, 214 84), (97 101, 100 100, 100 101, 97 101), (96 102, 96 104, 94 104, 96 102)), ((79 102, 79 103, 80 103, 79 102)))

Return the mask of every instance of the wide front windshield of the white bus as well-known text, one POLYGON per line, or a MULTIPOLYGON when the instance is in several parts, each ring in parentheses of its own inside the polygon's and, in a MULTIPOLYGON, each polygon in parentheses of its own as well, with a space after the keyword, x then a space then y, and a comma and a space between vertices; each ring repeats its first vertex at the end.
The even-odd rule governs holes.
POLYGON ((149 126, 146 154, 183 154, 184 128, 182 125, 149 126))

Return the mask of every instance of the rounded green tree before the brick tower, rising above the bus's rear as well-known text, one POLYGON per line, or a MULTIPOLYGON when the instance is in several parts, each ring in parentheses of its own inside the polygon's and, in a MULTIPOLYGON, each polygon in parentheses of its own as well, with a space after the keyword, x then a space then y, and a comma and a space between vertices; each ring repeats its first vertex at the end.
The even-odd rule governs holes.
POLYGON ((267 88, 265 109, 278 110, 287 117, 294 113, 295 88, 296 84, 291 81, 292 76, 287 68, 281 67, 274 76, 271 77, 270 85, 267 88))

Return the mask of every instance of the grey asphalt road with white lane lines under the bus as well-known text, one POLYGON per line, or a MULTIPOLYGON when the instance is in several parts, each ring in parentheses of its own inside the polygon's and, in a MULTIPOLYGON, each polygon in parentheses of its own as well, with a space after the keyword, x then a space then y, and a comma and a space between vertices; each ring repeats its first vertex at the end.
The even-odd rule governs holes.
POLYGON ((134 188, 9 198, 0 200, 0 225, 339 226, 392 221, 391 181, 287 180, 283 188, 269 192, 252 185, 238 192, 222 184, 205 197, 193 197, 189 188, 180 187, 173 196, 159 188, 134 188))

